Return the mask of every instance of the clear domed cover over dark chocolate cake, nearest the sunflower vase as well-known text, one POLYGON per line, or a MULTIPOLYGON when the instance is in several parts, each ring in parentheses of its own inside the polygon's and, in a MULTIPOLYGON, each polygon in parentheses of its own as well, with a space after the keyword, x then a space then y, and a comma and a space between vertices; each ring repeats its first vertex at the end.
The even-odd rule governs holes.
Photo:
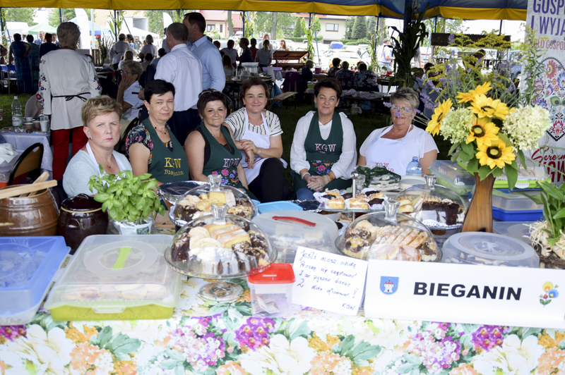
POLYGON ((425 185, 414 185, 399 192, 398 212, 418 219, 432 229, 455 229, 463 226, 466 202, 453 190, 436 185, 435 175, 426 175, 425 185))

